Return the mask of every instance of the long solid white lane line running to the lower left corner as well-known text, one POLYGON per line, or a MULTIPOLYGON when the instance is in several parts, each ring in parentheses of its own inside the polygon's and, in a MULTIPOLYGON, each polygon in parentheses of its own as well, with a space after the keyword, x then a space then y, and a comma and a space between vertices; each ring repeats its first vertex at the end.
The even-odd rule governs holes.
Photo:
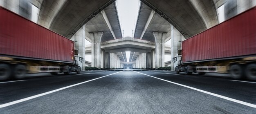
MULTIPOLYGON (((123 71, 120 71, 120 72, 123 72, 123 71)), ((116 72, 116 73, 113 73, 113 74, 117 74, 117 73, 119 73, 119 72, 116 72)), ((110 76, 110 75, 113 75, 113 74, 109 74, 109 75, 106 75, 106 76, 110 76)), ((104 78, 104 77, 106 77, 106 76, 102 76, 102 77, 99 77, 99 78, 104 78)), ((23 99, 20 99, 20 100, 17 100, 17 101, 5 103, 5 104, 0 105, 0 108, 7 107, 7 106, 10 106, 10 105, 14 105, 14 104, 17 104, 17 103, 21 103, 21 102, 24 102, 24 101, 28 101, 28 100, 30 100, 30 99, 37 98, 37 97, 40 97, 40 96, 44 96, 44 95, 47 95, 47 94, 51 94, 51 93, 54 93, 54 92, 58 92, 58 91, 61 91, 61 90, 63 90, 63 89, 67 89, 67 88, 70 88, 70 87, 74 87, 74 86, 76 86, 76 85, 81 85, 81 84, 83 84, 83 83, 88 83, 88 82, 90 82, 90 81, 97 80, 97 79, 99 79, 99 78, 95 78, 95 79, 88 80, 88 81, 84 81, 84 82, 77 83, 77 84, 74 84, 74 85, 62 87, 62 88, 55 89, 55 90, 52 90, 52 91, 49 91, 49 92, 45 92, 45 93, 42 93, 42 94, 38 94, 38 95, 30 96, 30 97, 27 97, 27 98, 23 98, 23 99)))

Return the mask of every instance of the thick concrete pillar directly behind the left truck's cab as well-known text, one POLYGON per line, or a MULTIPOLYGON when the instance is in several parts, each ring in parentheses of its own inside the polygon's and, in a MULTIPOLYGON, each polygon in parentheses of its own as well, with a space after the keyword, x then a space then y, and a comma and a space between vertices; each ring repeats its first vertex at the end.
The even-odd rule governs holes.
POLYGON ((75 49, 78 49, 78 54, 83 57, 81 68, 83 70, 85 68, 85 25, 83 25, 72 38, 74 38, 75 49))

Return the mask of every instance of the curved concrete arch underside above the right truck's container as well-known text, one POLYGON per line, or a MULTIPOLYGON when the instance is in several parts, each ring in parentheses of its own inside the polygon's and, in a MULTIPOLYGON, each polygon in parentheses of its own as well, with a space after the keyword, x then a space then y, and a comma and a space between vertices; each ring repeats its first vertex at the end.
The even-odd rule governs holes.
POLYGON ((212 0, 141 0, 189 38, 218 24, 212 0))

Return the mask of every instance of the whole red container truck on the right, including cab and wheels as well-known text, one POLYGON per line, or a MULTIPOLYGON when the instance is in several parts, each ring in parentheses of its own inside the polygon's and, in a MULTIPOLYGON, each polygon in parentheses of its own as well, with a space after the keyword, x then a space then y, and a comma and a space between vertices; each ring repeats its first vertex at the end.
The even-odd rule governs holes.
POLYGON ((173 62, 177 74, 231 73, 256 80, 256 7, 184 40, 173 62))

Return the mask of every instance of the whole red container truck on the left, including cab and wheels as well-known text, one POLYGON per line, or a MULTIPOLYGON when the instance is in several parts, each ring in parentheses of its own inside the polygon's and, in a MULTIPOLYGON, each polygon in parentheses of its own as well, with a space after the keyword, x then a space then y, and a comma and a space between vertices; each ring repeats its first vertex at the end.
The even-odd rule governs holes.
POLYGON ((80 73, 82 60, 72 40, 0 7, 0 80, 25 73, 80 73))

